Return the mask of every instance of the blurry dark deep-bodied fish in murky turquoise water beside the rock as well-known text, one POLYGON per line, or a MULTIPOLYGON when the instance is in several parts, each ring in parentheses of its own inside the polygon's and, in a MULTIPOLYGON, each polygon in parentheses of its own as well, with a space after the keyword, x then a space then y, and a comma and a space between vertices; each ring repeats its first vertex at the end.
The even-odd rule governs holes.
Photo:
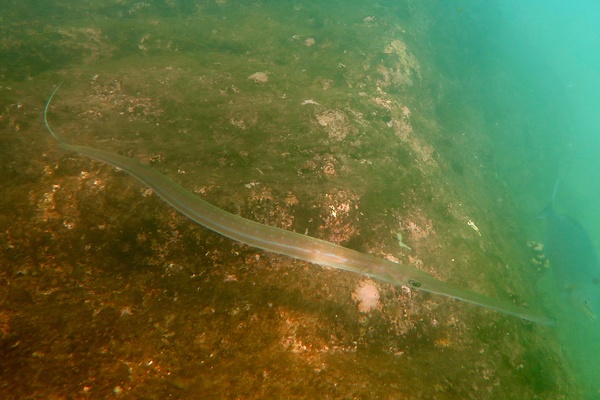
POLYGON ((600 316, 600 262, 586 230, 574 218, 559 214, 552 205, 547 221, 546 257, 559 292, 577 309, 600 316))

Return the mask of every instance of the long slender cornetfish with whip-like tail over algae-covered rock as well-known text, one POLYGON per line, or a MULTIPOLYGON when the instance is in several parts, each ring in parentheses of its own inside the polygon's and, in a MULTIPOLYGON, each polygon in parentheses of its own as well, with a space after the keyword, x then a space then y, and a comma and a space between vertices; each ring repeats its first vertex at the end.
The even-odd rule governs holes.
POLYGON ((74 151, 122 169, 151 188, 171 207, 210 230, 249 246, 314 264, 351 271, 393 285, 405 285, 413 289, 452 297, 539 324, 553 325, 554 323, 546 316, 519 307, 509 301, 495 299, 442 282, 413 266, 377 258, 324 240, 242 218, 202 200, 165 175, 132 158, 67 143, 52 131, 47 119, 50 102, 61 84, 62 82, 56 86, 48 98, 43 117, 46 128, 62 149, 74 151))

